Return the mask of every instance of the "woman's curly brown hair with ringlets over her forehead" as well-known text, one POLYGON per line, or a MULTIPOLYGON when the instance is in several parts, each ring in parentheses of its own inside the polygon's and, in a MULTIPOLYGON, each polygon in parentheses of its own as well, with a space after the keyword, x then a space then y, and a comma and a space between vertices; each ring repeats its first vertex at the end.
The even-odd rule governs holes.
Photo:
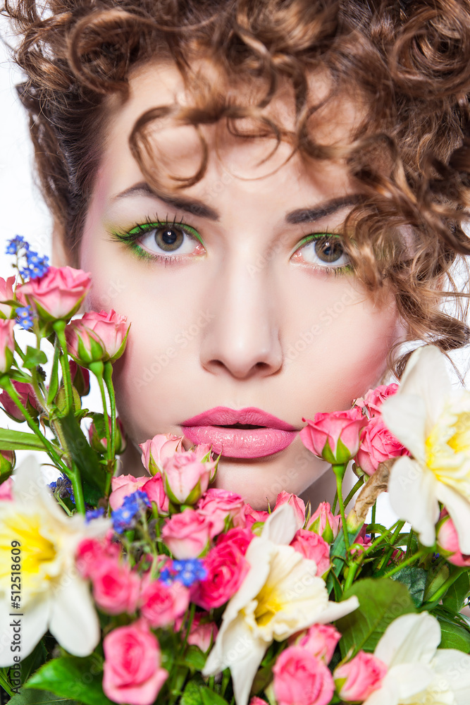
MULTIPOLYGON (((345 160, 364 195, 344 226, 359 279, 374 295, 390 283, 409 340, 444 352, 468 343, 469 294, 454 272, 470 254, 462 229, 470 202, 469 1, 7 0, 4 12, 21 35, 16 61, 26 80, 18 92, 40 183, 70 252, 80 242, 109 97, 125 102, 130 69, 158 57, 178 68, 193 103, 147 111, 132 130, 132 154, 156 192, 204 176, 199 127, 218 121, 235 135, 289 142, 306 161, 345 160), (202 58, 217 80, 194 68, 202 58), (329 93, 314 104, 309 76, 318 71, 329 93), (293 130, 265 110, 286 81, 293 130), (256 91, 240 88, 234 100, 227 86, 256 91), (317 142, 319 111, 345 92, 367 106, 366 119, 348 144, 317 142), (151 135, 166 117, 196 128, 202 161, 197 173, 163 184, 151 166, 151 135), (403 236, 410 228, 412 247, 403 236)), ((392 353, 400 376, 407 355, 392 362, 392 353)))

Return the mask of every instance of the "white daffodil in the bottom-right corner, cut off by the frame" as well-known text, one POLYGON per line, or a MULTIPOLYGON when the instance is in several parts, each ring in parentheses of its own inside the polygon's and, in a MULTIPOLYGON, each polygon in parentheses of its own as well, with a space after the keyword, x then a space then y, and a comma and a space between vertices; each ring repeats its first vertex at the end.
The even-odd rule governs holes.
POLYGON ((388 672, 364 705, 469 705, 470 656, 438 649, 440 625, 428 612, 402 615, 374 651, 388 672))

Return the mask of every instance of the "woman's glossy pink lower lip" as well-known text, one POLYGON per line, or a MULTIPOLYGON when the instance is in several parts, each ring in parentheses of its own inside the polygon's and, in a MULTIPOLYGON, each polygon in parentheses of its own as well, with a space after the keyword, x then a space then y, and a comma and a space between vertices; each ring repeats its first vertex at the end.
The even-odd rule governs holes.
POLYGON ((183 426, 188 440, 197 446, 211 443, 214 453, 225 458, 264 458, 290 446, 298 431, 280 429, 224 429, 220 426, 183 426))

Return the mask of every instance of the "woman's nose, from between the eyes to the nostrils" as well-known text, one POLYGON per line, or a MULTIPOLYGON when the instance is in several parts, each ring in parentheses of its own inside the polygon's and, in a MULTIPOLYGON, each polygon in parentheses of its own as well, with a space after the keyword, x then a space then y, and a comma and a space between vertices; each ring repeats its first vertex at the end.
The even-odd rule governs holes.
POLYGON ((268 376, 283 364, 274 274, 252 272, 252 256, 225 264, 208 286, 214 317, 204 329, 200 358, 213 374, 268 376), (251 266, 250 266, 251 263, 251 266))

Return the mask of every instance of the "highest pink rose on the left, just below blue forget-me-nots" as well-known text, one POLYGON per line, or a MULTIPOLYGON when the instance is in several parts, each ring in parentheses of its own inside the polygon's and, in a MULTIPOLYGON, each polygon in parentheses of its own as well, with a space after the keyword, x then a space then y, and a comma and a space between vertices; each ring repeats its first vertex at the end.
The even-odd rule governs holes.
POLYGON ((20 284, 18 300, 25 306, 34 303, 44 321, 68 320, 80 308, 92 278, 88 272, 70 266, 50 266, 47 273, 20 284))

